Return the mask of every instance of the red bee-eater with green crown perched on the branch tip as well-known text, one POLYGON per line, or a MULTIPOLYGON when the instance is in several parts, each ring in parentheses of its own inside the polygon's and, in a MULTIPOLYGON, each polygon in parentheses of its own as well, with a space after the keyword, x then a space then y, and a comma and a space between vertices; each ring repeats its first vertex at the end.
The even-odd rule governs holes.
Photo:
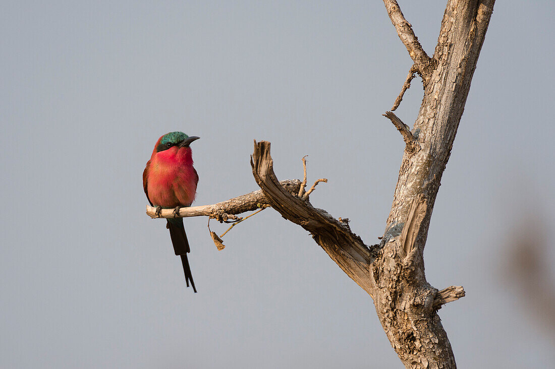
MULTIPOLYGON (((174 209, 174 214, 177 215, 179 208, 191 206, 193 203, 199 175, 193 168, 193 155, 189 145, 199 138, 189 137, 183 132, 170 132, 160 137, 154 146, 152 156, 143 172, 143 187, 150 205, 157 207, 157 213, 162 209, 174 209)), ((187 259, 187 253, 191 249, 185 234, 183 218, 167 220, 166 227, 170 230, 175 255, 181 256, 187 287, 191 281, 191 286, 196 292, 187 259)))

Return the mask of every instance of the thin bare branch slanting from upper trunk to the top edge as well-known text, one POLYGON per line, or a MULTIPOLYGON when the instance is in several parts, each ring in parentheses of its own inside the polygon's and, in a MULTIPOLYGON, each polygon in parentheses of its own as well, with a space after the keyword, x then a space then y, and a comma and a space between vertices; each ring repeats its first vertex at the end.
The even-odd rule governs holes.
POLYGON ((403 16, 399 4, 397 4, 395 0, 384 0, 384 4, 387 9, 387 14, 389 14, 389 18, 391 19, 391 23, 393 23, 393 26, 395 26, 397 30, 399 38, 403 44, 405 44, 408 54, 411 55, 416 67, 420 70, 424 84, 427 84, 432 69, 434 68, 432 58, 428 57, 428 54, 426 54, 420 42, 418 42, 418 38, 414 31, 412 31, 412 25, 408 23, 405 16, 403 16))

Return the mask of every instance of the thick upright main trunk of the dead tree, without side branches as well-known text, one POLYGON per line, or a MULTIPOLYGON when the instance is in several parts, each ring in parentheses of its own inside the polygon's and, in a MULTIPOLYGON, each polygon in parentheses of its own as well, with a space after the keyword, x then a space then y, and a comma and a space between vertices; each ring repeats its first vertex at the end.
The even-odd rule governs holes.
MULTIPOLYGON (((408 146, 405 149, 382 248, 372 265, 377 286, 376 312, 406 367, 456 367, 451 344, 433 304, 437 290, 426 282, 422 255, 437 190, 494 2, 450 0, 447 3, 433 55, 435 67, 421 70, 425 74, 425 92, 412 128, 421 149, 417 152, 408 146), (407 237, 412 245, 408 253, 405 251, 407 237)), ((384 3, 390 9, 388 3, 392 2, 384 0, 384 3)), ((390 17, 395 24, 391 12, 390 17)), ((401 32, 399 36, 403 40, 401 32)), ((416 63, 423 57, 413 59, 416 63)))

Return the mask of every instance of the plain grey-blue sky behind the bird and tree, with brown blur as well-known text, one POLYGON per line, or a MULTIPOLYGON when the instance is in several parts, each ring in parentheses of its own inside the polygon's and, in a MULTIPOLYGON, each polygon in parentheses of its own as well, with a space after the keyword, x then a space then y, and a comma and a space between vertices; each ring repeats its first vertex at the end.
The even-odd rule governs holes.
MULTIPOLYGON (((400 1, 433 54, 445 1, 400 1)), ((427 280, 461 368, 555 360, 552 1, 497 2, 443 175, 427 280)), ((0 367, 402 367, 370 297, 268 209, 217 251, 185 220, 198 294, 145 215, 157 139, 198 135, 196 205, 279 179, 366 244, 385 228, 403 140, 381 114, 411 59, 380 1, 0 5, 0 367)), ((413 80, 397 115, 412 125, 413 80)), ((221 234, 225 226, 211 222, 221 234)))

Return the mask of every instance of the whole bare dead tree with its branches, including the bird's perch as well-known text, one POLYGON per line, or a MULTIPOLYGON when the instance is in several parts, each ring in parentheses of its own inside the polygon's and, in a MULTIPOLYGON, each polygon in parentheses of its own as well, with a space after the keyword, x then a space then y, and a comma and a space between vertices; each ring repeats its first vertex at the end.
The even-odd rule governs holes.
MULTIPOLYGON (((392 110, 401 102, 415 73, 422 77, 424 97, 412 129, 392 112, 385 114, 401 132, 406 146, 393 205, 379 245, 366 246, 351 231, 347 220, 334 219, 310 204, 310 191, 304 192, 306 171, 302 184, 279 183, 273 170, 270 143, 266 141, 255 142, 251 157, 253 175, 262 193, 256 191, 223 203, 183 208, 179 215, 239 220, 234 214, 270 205, 285 219, 309 231, 331 259, 368 292, 391 345, 407 368, 456 367, 437 310, 465 292, 458 286, 438 291, 428 284, 423 251, 441 176, 494 3, 495 0, 448 0, 435 53, 430 58, 397 2, 384 0, 391 22, 414 62, 392 110)), ((172 211, 163 210, 161 216, 174 216, 172 211)), ((147 213, 156 217, 154 208, 147 213)))

